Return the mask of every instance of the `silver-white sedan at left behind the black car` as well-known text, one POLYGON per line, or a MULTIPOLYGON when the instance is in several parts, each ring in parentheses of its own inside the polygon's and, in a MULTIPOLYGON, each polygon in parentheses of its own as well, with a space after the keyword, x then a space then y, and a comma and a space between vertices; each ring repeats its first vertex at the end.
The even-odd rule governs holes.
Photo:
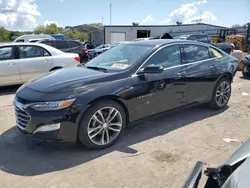
POLYGON ((80 57, 41 43, 0 44, 0 86, 25 83, 50 71, 76 66, 80 57))

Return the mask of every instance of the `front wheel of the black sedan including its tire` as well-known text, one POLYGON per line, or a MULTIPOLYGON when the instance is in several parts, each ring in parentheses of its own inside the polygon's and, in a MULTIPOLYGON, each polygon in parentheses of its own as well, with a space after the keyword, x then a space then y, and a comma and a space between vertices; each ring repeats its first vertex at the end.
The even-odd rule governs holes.
POLYGON ((123 107, 113 100, 101 100, 87 110, 79 125, 78 138, 90 149, 113 145, 126 126, 123 107))

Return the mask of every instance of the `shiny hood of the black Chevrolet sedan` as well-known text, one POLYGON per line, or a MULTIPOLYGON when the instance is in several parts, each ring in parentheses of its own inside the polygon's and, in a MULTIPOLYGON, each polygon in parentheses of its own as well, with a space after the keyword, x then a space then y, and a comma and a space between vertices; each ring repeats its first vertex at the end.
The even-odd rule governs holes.
POLYGON ((115 73, 104 73, 84 67, 65 68, 28 82, 25 86, 41 92, 75 92, 87 84, 105 81, 115 73), (106 78, 106 79, 104 79, 106 78))

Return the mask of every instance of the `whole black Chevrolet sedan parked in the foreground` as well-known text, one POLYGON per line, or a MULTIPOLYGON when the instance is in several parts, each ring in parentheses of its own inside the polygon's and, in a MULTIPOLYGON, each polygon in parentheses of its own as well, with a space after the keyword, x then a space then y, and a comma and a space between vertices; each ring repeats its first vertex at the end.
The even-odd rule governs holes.
POLYGON ((205 43, 130 42, 24 84, 16 125, 42 140, 106 148, 130 122, 201 103, 225 108, 237 68, 236 58, 205 43))

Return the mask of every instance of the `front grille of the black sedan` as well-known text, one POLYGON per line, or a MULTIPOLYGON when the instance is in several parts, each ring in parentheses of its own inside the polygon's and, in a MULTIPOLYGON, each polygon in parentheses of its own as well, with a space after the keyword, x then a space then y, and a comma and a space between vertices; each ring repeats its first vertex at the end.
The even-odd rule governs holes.
POLYGON ((28 126, 30 115, 18 106, 15 106, 15 115, 16 125, 24 130, 28 126))

